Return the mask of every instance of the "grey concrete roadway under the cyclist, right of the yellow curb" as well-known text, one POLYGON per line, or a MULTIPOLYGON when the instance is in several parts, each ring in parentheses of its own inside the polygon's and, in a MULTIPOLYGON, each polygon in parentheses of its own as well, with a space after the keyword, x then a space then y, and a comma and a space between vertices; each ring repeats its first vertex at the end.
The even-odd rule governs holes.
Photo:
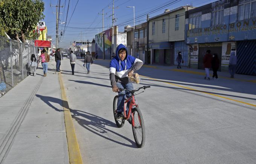
POLYGON ((131 125, 114 122, 110 61, 94 61, 90 74, 82 61, 75 75, 69 60, 61 70, 84 163, 255 163, 256 83, 245 82, 255 77, 219 72, 219 81, 207 81, 175 67, 143 66, 138 73, 150 78, 134 88, 151 88, 136 96, 146 128, 138 149, 131 125))

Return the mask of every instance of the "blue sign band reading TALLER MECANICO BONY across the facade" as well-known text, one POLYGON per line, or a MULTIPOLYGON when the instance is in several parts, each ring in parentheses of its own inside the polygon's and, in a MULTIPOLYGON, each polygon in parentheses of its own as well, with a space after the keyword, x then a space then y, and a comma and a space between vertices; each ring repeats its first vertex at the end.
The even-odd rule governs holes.
POLYGON ((229 25, 221 24, 218 26, 187 30, 187 37, 221 35, 251 30, 256 30, 256 18, 230 23, 229 25))

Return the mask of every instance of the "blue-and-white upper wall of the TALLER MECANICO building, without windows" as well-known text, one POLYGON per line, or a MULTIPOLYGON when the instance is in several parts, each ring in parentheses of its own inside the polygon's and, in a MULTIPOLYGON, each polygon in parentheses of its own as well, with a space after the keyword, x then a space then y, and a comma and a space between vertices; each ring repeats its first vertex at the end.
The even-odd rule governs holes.
MULTIPOLYGON (((256 18, 237 21, 238 6, 229 7, 228 4, 225 6, 228 7, 224 9, 224 22, 217 26, 211 26, 211 8, 208 9, 210 12, 202 14, 201 28, 189 30, 189 19, 186 18, 186 43, 195 44, 256 39, 256 18)), ((189 14, 194 10, 190 10, 189 14)))

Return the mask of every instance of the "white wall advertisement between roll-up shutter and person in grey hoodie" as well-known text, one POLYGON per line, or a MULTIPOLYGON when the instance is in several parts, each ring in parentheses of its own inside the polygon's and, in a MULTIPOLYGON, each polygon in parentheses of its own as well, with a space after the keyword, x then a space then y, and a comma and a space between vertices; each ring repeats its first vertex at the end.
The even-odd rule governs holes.
POLYGON ((228 66, 230 53, 235 51, 236 54, 236 42, 223 42, 222 43, 222 55, 221 55, 221 65, 228 66))

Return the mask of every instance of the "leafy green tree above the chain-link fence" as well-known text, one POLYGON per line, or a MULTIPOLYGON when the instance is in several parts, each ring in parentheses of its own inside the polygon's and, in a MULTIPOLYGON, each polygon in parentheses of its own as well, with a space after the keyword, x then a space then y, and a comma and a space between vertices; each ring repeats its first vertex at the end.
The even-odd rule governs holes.
POLYGON ((12 39, 35 39, 37 23, 44 18, 42 0, 0 0, 0 34, 12 39))

